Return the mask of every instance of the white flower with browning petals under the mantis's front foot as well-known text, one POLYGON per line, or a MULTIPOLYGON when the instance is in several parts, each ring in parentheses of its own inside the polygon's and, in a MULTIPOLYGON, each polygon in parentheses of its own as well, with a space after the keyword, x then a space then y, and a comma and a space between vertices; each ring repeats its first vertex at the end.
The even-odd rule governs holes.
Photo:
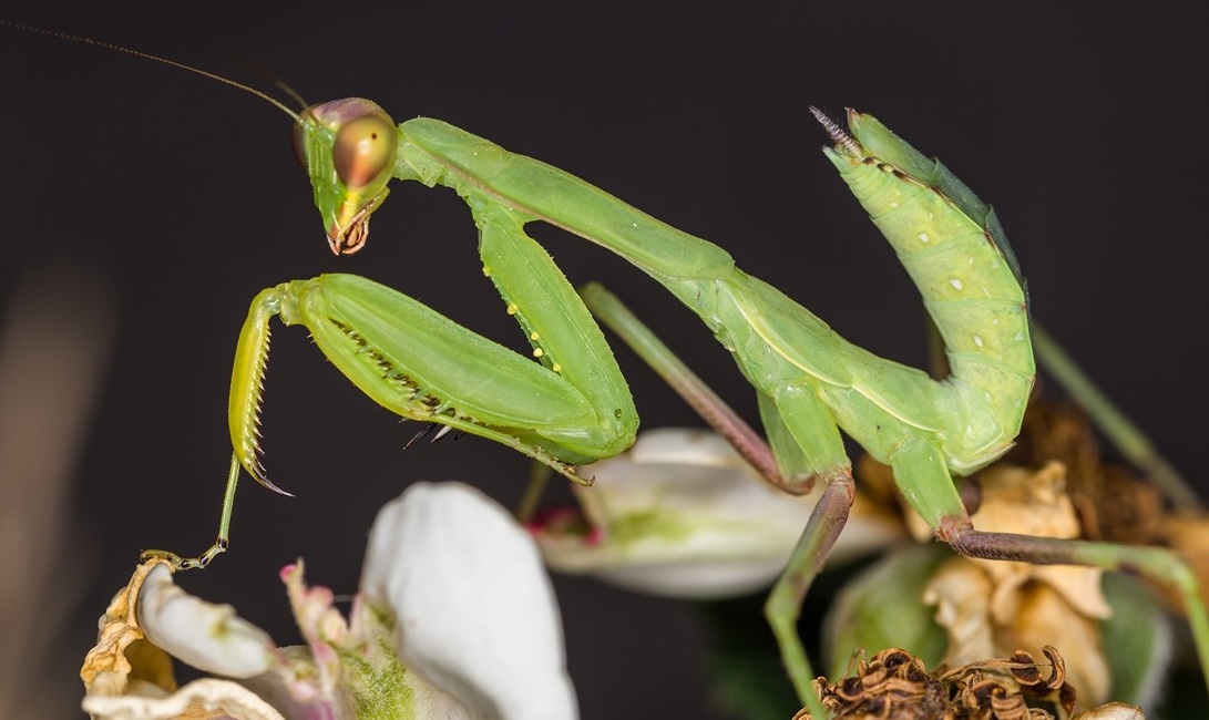
POLYGON ((282 570, 306 648, 141 565, 81 669, 97 720, 578 716, 549 577, 528 535, 459 483, 417 483, 378 513, 349 617, 302 563, 282 570), (169 656, 208 678, 177 687, 169 656))

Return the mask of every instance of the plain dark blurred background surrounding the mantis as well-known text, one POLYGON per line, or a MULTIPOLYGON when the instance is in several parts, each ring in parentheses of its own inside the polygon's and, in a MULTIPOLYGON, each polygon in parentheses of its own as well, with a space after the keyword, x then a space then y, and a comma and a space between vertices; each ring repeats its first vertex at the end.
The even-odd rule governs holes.
MULTIPOLYGON (((262 66, 310 101, 363 95, 398 121, 449 121, 721 244, 858 344, 922 365, 915 291, 820 155, 808 106, 872 112, 996 207, 1035 317, 1205 487, 1203 7, 678 5, 334 4, 313 14, 283 2, 6 2, 2 16, 271 89, 250 69, 262 66)), ((57 582, 85 590, 69 596, 65 632, 39 640, 52 649, 40 675, 70 716, 96 617, 139 550, 197 552, 214 536, 229 370, 259 290, 360 273, 526 346, 481 277, 452 192, 395 185, 369 246, 337 259, 289 120, 267 104, 6 28, 0 64, 0 303, 27 273, 70 267, 108 285, 118 313, 73 465, 73 545, 51 581, 52 594, 57 582)), ((621 290, 754 420, 729 356, 660 288, 595 245, 536 234, 572 280, 621 290)), ((354 391, 305 331, 278 329, 273 350, 266 464, 297 498, 244 480, 232 551, 180 580, 291 643, 279 567, 302 556, 312 582, 353 592, 374 515, 410 482, 463 480, 511 504, 527 465, 474 437, 403 452, 416 428, 354 391)), ((618 355, 646 426, 699 424, 618 355)), ((730 716, 713 701, 716 650, 692 605, 555 583, 585 720, 730 716)))

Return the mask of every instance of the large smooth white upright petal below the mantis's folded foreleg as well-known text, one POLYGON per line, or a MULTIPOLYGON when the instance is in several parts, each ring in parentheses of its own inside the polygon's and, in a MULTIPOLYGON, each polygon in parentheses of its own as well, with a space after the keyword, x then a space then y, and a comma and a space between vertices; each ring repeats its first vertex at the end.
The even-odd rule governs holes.
POLYGON ((409 669, 475 718, 578 716, 562 628, 533 540, 459 483, 416 483, 378 513, 361 591, 394 612, 409 669))

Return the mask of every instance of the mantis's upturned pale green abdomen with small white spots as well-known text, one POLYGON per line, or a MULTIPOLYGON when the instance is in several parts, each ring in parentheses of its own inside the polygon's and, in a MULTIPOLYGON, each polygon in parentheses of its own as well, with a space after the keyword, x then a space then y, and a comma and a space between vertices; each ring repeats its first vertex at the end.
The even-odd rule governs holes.
POLYGON ((962 405, 987 408, 1003 436, 968 437, 967 447, 1006 447, 1035 368, 1024 283, 1002 230, 939 162, 869 116, 851 114, 849 123, 855 144, 827 156, 919 288, 944 337, 953 385, 968 401, 962 405))

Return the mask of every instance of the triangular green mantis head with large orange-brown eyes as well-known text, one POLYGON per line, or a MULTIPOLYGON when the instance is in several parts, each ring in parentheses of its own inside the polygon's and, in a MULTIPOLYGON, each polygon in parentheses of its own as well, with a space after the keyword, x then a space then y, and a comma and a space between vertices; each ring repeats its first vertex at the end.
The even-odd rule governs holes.
POLYGON ((391 116, 363 98, 312 105, 294 126, 294 149, 336 255, 357 252, 369 238, 370 214, 389 192, 397 141, 391 116))

